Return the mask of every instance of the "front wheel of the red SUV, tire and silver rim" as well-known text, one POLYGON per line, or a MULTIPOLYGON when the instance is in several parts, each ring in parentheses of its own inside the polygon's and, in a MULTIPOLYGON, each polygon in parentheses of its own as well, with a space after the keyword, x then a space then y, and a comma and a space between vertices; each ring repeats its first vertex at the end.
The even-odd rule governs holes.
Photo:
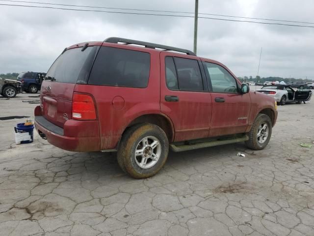
POLYGON ((246 146, 253 150, 264 149, 270 140, 271 131, 272 123, 270 118, 265 114, 259 114, 248 133, 249 140, 245 142, 246 146))

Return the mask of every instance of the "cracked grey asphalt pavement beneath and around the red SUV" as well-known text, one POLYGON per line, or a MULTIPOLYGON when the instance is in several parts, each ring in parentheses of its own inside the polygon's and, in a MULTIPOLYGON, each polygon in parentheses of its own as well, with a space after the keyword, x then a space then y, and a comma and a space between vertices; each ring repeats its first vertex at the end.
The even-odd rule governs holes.
MULTIPOLYGON (((0 98, 0 117, 33 116, 33 94, 0 98)), ((15 145, 0 120, 0 236, 314 236, 314 102, 278 106, 261 151, 243 143, 170 152, 154 177, 115 153, 15 145), (237 152, 245 157, 237 156, 237 152)))

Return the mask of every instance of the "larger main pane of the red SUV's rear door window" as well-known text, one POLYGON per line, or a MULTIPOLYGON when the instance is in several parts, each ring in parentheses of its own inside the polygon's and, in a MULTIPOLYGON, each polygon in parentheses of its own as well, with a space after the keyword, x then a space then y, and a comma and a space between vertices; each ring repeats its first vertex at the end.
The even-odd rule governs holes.
POLYGON ((179 89, 185 91, 203 90, 203 81, 197 60, 174 58, 179 89))

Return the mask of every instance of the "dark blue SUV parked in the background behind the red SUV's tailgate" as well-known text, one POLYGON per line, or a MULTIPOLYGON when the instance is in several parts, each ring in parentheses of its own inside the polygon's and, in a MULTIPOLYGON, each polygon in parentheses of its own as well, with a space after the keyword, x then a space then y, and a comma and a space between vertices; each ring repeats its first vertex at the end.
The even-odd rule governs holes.
POLYGON ((37 93, 43 82, 46 73, 43 72, 22 72, 17 80, 22 82, 22 90, 30 93, 37 93))

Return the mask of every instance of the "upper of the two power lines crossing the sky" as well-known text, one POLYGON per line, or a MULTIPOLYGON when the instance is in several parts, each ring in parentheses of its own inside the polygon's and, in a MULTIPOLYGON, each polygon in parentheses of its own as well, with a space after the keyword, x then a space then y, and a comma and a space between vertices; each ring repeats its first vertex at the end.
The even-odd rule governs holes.
MULTIPOLYGON (((73 5, 73 4, 61 4, 61 3, 51 3, 51 2, 39 2, 39 1, 20 1, 20 0, 0 0, 0 1, 36 3, 36 4, 58 5, 58 6, 74 6, 74 7, 86 7, 86 8, 103 8, 103 9, 114 9, 114 10, 151 11, 151 12, 168 12, 168 13, 194 14, 194 12, 187 12, 187 11, 166 11, 166 10, 150 10, 150 9, 136 9, 136 8, 116 8, 116 7, 73 5)), ((267 18, 254 18, 254 17, 244 17, 244 16, 219 15, 219 14, 211 14, 211 13, 199 13, 199 14, 200 15, 210 15, 210 16, 222 16, 222 17, 251 19, 251 20, 280 21, 280 22, 291 22, 291 23, 302 23, 302 24, 314 24, 313 22, 305 22, 305 21, 276 20, 276 19, 267 19, 267 18)))

